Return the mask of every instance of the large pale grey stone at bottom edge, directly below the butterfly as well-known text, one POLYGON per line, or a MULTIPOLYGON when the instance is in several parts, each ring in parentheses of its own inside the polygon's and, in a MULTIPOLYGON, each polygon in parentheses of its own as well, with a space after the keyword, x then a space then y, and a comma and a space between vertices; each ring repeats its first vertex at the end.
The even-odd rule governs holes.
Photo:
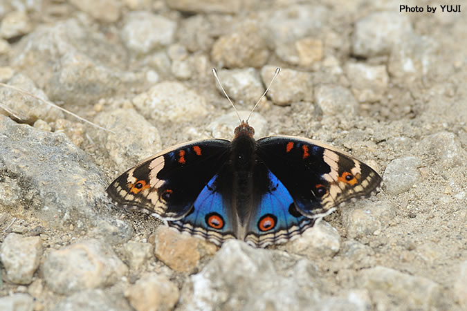
POLYGON ((191 276, 192 296, 182 301, 186 310, 306 310, 320 300, 318 288, 324 290, 315 269, 306 259, 229 240, 191 276))

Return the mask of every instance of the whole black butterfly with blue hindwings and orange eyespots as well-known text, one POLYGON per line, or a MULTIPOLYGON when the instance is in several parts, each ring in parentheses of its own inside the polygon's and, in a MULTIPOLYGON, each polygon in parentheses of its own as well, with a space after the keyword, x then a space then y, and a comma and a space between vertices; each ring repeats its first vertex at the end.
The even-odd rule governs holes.
POLYGON ((381 183, 367 164, 321 142, 255 140, 248 119, 234 134, 232 141, 196 140, 161 151, 122 173, 107 194, 216 245, 238 238, 266 247, 302 234, 381 183))

